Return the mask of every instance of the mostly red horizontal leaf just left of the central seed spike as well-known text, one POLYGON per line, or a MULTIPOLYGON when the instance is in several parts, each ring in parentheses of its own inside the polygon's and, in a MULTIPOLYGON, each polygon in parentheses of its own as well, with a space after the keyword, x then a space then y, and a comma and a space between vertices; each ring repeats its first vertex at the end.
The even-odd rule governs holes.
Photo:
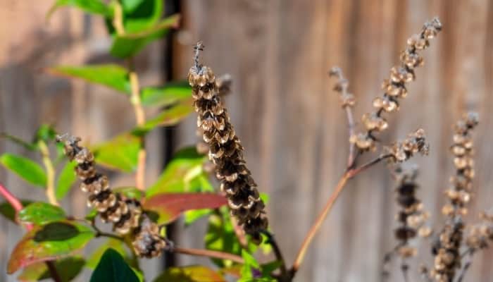
POLYGON ((182 212, 193 209, 217 209, 226 204, 225 197, 212 193, 158 194, 144 202, 144 209, 159 215, 158 223, 166 224, 177 219, 182 212))

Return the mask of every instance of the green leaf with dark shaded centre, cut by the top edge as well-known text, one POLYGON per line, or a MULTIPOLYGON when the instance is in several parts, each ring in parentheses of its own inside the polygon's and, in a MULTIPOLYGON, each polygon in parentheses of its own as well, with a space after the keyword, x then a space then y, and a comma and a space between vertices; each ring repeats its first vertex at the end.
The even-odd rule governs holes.
POLYGON ((141 32, 156 25, 163 15, 162 0, 122 0, 125 32, 141 32))

